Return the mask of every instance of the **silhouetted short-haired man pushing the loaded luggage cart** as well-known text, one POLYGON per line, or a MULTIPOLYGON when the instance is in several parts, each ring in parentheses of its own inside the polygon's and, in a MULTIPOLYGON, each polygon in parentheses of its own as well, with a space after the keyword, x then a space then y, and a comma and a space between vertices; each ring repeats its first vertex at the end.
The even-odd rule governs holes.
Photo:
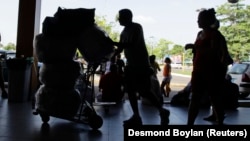
POLYGON ((126 91, 130 105, 133 110, 133 116, 124 121, 124 126, 141 125, 142 120, 138 109, 137 93, 140 96, 146 97, 159 110, 161 124, 169 124, 170 112, 163 108, 162 102, 151 92, 150 73, 152 69, 149 64, 149 55, 147 52, 143 29, 138 23, 132 21, 133 14, 129 9, 119 11, 118 21, 121 26, 124 26, 120 35, 119 43, 116 43, 118 50, 116 54, 124 50, 127 59, 125 67, 125 83, 126 91))

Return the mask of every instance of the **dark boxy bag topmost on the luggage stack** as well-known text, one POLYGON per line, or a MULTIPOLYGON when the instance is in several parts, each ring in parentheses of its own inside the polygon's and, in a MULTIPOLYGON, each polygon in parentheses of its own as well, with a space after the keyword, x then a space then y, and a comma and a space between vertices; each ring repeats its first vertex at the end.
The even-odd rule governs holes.
POLYGON ((59 7, 54 17, 46 17, 42 32, 49 36, 78 36, 95 23, 95 9, 62 9, 59 7))

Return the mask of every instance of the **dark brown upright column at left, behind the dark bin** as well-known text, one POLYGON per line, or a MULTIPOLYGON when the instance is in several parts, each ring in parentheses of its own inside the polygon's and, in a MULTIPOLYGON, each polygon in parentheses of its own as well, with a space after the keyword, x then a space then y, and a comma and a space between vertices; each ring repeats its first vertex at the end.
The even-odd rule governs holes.
POLYGON ((29 98, 37 89, 37 61, 34 56, 33 40, 40 29, 41 0, 19 0, 16 58, 34 57, 31 80, 29 84, 29 98))

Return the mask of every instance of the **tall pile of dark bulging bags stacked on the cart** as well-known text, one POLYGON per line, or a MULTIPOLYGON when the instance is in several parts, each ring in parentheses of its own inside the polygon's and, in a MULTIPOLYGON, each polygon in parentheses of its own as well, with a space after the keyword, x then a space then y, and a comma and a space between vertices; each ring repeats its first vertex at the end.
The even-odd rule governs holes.
POLYGON ((81 103, 75 83, 80 65, 74 61, 77 49, 88 63, 111 57, 112 40, 95 24, 95 9, 58 8, 46 17, 42 33, 35 37, 35 52, 43 65, 39 70, 42 83, 36 92, 36 108, 62 116, 74 116, 81 103))

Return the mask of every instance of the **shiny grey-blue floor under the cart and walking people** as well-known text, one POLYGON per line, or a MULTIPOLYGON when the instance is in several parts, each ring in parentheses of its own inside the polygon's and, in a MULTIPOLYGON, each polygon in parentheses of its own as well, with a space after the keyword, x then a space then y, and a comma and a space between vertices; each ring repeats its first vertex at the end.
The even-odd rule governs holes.
MULTIPOLYGON (((150 105, 139 101, 139 108, 144 124, 159 124, 158 111, 150 105)), ((170 125, 185 125, 187 107, 164 105, 170 110, 170 125)), ((123 141, 123 120, 128 119, 131 108, 128 101, 110 107, 105 113, 102 106, 95 107, 103 118, 103 125, 93 131, 88 124, 80 124, 69 120, 51 117, 43 125, 40 116, 32 114, 30 102, 11 103, 0 98, 0 141, 123 141)), ((210 113, 210 109, 201 109, 196 124, 212 125, 202 118, 210 113)), ((228 111, 225 119, 230 125, 250 125, 250 108, 240 107, 236 111, 228 111)))

